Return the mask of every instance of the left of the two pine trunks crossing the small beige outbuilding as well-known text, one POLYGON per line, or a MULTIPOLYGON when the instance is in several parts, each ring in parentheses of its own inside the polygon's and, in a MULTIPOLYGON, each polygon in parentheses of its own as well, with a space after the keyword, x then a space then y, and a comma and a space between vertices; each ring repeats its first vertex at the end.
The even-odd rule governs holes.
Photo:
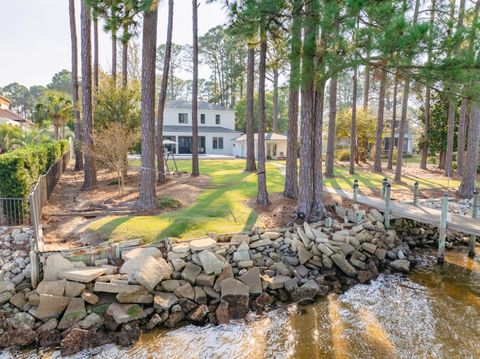
POLYGON ((247 53, 247 163, 245 170, 255 172, 255 130, 253 129, 254 114, 254 92, 255 92, 255 47, 248 44, 247 53))

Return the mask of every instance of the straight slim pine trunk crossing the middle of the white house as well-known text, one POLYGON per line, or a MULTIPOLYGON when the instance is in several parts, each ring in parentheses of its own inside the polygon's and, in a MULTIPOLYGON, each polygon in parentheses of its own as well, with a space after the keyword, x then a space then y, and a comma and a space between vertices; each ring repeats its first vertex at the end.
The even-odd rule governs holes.
POLYGON ((198 2, 192 0, 192 176, 200 175, 198 168, 198 2))

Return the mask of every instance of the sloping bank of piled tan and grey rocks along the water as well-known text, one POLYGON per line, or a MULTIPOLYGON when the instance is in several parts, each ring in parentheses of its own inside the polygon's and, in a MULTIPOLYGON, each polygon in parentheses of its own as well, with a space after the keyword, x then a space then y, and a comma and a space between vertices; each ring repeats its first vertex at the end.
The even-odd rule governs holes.
MULTIPOLYGON (((131 345, 155 327, 242 320, 251 311, 342 293, 382 271, 408 272, 412 250, 438 238, 435 228, 402 219, 386 230, 376 210, 363 211, 359 224, 348 221, 359 211, 333 210, 345 223, 166 240, 94 266, 51 254, 35 290, 0 276, 0 347, 55 347, 70 355, 131 345)), ((449 246, 461 238, 449 235, 449 246)))

